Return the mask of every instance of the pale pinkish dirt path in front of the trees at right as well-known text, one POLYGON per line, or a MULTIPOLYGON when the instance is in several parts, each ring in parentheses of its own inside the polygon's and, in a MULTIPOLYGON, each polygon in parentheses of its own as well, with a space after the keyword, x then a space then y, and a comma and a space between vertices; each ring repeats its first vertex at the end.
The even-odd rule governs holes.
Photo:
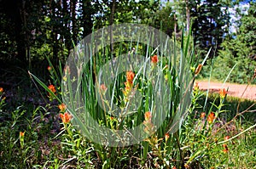
POLYGON ((225 83, 223 86, 223 83, 221 82, 207 82, 207 81, 196 81, 198 82, 198 86, 201 90, 207 90, 209 88, 209 91, 212 93, 218 93, 219 89, 221 88, 229 88, 228 89, 228 95, 239 97, 243 99, 252 99, 256 101, 256 85, 241 85, 236 83, 225 83))

